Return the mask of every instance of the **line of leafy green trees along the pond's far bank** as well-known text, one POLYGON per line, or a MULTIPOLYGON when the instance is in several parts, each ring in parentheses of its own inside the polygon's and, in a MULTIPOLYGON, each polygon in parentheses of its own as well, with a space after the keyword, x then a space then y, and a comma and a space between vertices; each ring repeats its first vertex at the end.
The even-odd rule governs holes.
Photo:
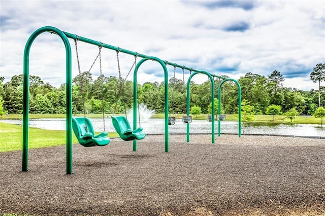
MULTIPOLYGON (((267 77, 246 73, 238 80, 243 108, 249 108, 248 113, 255 115, 268 114, 270 106, 280 107, 280 113, 295 110, 297 115, 312 115, 318 107, 325 105, 325 87, 320 85, 325 81, 325 64, 317 64, 310 79, 319 83, 317 90, 283 87, 284 78, 278 70, 272 71, 267 77)), ((221 81, 214 79, 216 98, 221 81)), ((22 114, 22 85, 23 75, 15 75, 7 83, 4 83, 4 77, 0 77, 0 114, 22 114)), ((186 83, 171 78, 168 91, 169 113, 186 113, 186 83)), ((164 92, 164 82, 138 84, 138 102, 145 103, 148 109, 154 109, 156 113, 164 113, 164 92)), ((82 114, 84 110, 87 113, 102 113, 103 110, 107 114, 124 113, 133 106, 133 82, 104 75, 93 80, 92 74, 84 71, 73 79, 72 101, 74 114, 82 114)), ((238 87, 235 83, 226 82, 222 85, 221 105, 223 114, 238 113, 238 87)), ((190 83, 190 107, 199 107, 204 114, 211 113, 211 81, 190 83)), ((29 113, 66 113, 66 84, 56 88, 44 83, 40 77, 30 76, 29 113)))

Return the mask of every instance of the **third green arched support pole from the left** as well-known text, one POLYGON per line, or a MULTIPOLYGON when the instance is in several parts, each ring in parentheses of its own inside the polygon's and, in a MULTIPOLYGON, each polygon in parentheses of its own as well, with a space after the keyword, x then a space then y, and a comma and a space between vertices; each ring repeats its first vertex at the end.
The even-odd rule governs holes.
MULTIPOLYGON (((211 115, 214 116, 214 80, 212 78, 212 76, 206 72, 206 71, 198 71, 198 72, 194 72, 193 74, 191 74, 187 80, 187 97, 186 97, 186 115, 189 116, 189 110, 190 110, 190 101, 189 101, 189 95, 190 95, 190 81, 192 79, 193 76, 197 75, 197 74, 205 74, 207 75, 210 80, 211 80, 211 105, 212 105, 212 111, 211 111, 211 115)), ((214 118, 212 118, 212 129, 211 129, 211 133, 212 133, 212 143, 214 143, 214 118)), ((189 142, 189 123, 186 123, 186 141, 189 142)))

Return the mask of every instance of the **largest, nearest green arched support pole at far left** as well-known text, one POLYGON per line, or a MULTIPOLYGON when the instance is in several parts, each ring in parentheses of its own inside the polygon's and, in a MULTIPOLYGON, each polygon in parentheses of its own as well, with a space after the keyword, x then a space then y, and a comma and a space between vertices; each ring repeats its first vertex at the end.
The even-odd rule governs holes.
POLYGON ((28 112, 29 112, 29 51, 32 42, 43 32, 52 32, 62 39, 66 47, 66 103, 67 103, 67 174, 72 174, 72 75, 71 75, 71 47, 66 35, 51 26, 39 28, 32 33, 24 50, 23 74, 23 131, 22 131, 22 171, 28 171, 28 112))

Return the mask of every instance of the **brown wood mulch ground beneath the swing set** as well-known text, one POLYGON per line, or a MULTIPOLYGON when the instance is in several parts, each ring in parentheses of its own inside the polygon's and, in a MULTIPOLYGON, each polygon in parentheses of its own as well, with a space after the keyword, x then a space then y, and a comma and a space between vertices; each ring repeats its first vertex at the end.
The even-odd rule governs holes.
POLYGON ((325 141, 313 138, 164 135, 0 153, 0 214, 325 215, 325 141))

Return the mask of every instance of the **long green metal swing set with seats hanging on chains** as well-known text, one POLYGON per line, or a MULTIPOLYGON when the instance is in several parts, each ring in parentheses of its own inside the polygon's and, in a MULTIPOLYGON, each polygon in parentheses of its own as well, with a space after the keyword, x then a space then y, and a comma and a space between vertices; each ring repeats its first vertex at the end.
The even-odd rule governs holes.
MULTIPOLYGON (((100 67, 101 67, 101 76, 102 76, 102 66, 101 66, 101 50, 102 48, 110 49, 110 50, 115 50, 117 53, 117 59, 118 59, 118 53, 122 52, 125 54, 133 55, 135 56, 135 62, 133 66, 135 65, 134 69, 134 76, 133 76, 133 129, 131 128, 131 125, 126 119, 126 115, 124 116, 117 116, 117 117, 112 117, 112 123, 114 128, 116 129, 117 133, 123 140, 133 140, 133 151, 137 151, 137 140, 138 139, 143 139, 145 137, 145 133, 142 131, 141 126, 137 127, 137 105, 138 105, 138 92, 137 92, 137 73, 139 67, 146 62, 147 60, 152 60, 161 65, 164 70, 164 87, 165 87, 165 152, 169 152, 169 97, 168 97, 168 69, 167 65, 174 66, 174 69, 176 67, 182 68, 189 70, 190 73, 193 71, 195 72, 194 74, 197 73, 203 73, 207 74, 209 77, 211 75, 207 73, 206 71, 202 70, 197 70, 193 69, 191 67, 186 67, 184 65, 179 65, 176 63, 172 63, 169 61, 163 61, 157 57, 154 56, 147 56, 143 55, 137 52, 129 51, 126 49, 121 49, 119 47, 115 47, 112 45, 104 44, 102 42, 94 41, 91 39, 79 37, 76 34, 68 33, 61 31, 58 28, 52 27, 52 26, 45 26, 37 29, 34 31, 30 37, 28 38, 25 49, 24 49, 24 68, 23 68, 23 134, 22 134, 22 171, 28 171, 28 112, 29 112, 29 52, 32 43, 34 40, 38 37, 43 32, 50 32, 58 35, 63 44, 64 47, 66 48, 66 173, 67 174, 72 174, 72 129, 78 138, 78 141, 81 145, 85 147, 90 147, 90 146, 106 146, 110 142, 109 137, 107 137, 107 132, 105 132, 105 116, 104 116, 104 97, 103 98, 103 122, 104 122, 104 132, 94 135, 94 130, 92 127, 92 124, 88 118, 85 116, 85 107, 84 107, 84 98, 83 98, 83 112, 84 112, 84 117, 73 117, 72 116, 72 58, 71 58, 71 46, 68 38, 73 39, 75 41, 76 45, 76 53, 77 53, 77 60, 78 60, 78 70, 79 70, 79 75, 81 74, 80 70, 80 62, 79 62, 79 57, 78 57, 78 50, 77 50, 77 42, 81 41, 84 43, 96 45, 100 48, 98 56, 95 58, 93 64, 95 63, 96 59, 99 57, 100 59, 100 67), (142 58, 138 63, 136 63, 137 57, 142 58)), ((92 68, 93 64, 91 65, 90 69, 92 68)), ((132 66, 132 68, 133 68, 132 66)), ((119 68, 119 81, 120 81, 120 90, 119 90, 119 95, 121 91, 123 90, 122 84, 126 80, 123 80, 121 78, 121 73, 120 73, 120 67, 119 67, 119 60, 118 60, 118 68, 119 68)), ((130 69, 129 73, 131 72, 132 68, 130 69)), ((89 71, 90 71, 89 69, 89 71)), ((128 73, 128 75, 129 75, 128 73)), ((190 78, 194 75, 191 74, 190 78)), ((128 76, 127 75, 127 76, 128 76)), ((175 76, 175 75, 174 75, 175 76)), ((183 75, 184 76, 184 75, 183 75)), ((83 81, 82 81, 82 76, 80 76, 80 91, 82 91, 82 86, 83 86, 83 81)), ((187 82, 187 109, 186 109, 186 116, 183 116, 182 121, 186 123, 187 125, 187 134, 189 134, 189 123, 191 122, 191 116, 189 115, 189 82, 190 78, 188 79, 187 82)), ((228 78, 223 78, 219 77, 221 79, 224 79, 224 81, 230 80, 228 78)), ((183 78, 184 80, 184 78, 183 78)), ((219 86, 220 87, 220 86, 219 86)), ((102 83, 102 90, 103 90, 103 83, 102 83)), ((214 91, 213 94, 214 96, 214 91)), ((81 96, 84 97, 84 95, 81 93, 81 96)), ((103 95, 102 95, 103 96, 103 95)), ((220 94, 219 94, 220 96, 220 94)), ((240 98, 240 88, 239 88, 239 98, 240 98)), ((214 100, 212 97, 212 107, 214 111, 214 100)), ((219 100, 220 102, 220 100, 219 100)), ((240 103, 239 103, 240 106, 240 103)), ((220 109, 220 105, 219 105, 220 109)), ((124 104, 124 110, 125 109, 125 104, 124 104)), ((240 117, 240 107, 239 107, 239 117, 240 117)), ((126 114, 126 112, 125 112, 126 114)), ((240 119, 240 118, 239 118, 240 119)), ((214 123, 214 122, 213 122, 214 123)), ((140 116, 139 116, 139 124, 140 124, 140 116)), ((240 124, 239 124, 239 136, 241 134, 240 131, 240 124)), ((188 136, 188 135, 187 135, 188 136)), ((187 141, 189 141, 189 138, 187 138, 187 141)), ((214 143, 214 124, 212 124, 212 143, 214 143)))

